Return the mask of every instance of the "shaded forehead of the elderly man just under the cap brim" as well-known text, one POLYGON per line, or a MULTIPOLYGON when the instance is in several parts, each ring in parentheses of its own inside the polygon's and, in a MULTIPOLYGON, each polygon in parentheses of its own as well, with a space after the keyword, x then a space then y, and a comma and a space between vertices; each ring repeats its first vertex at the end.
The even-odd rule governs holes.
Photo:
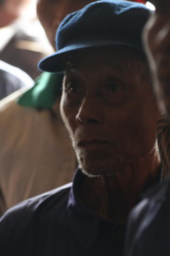
POLYGON ((114 68, 119 72, 138 65, 144 60, 143 54, 133 49, 105 48, 91 49, 70 54, 65 60, 65 72, 82 68, 114 68))

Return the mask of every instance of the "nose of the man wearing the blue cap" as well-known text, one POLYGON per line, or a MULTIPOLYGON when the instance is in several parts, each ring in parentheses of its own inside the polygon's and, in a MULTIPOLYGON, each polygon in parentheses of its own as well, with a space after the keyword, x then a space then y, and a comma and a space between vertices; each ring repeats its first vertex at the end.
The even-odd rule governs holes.
POLYGON ((96 96, 86 96, 79 107, 76 121, 79 124, 102 124, 103 109, 100 99, 96 96))

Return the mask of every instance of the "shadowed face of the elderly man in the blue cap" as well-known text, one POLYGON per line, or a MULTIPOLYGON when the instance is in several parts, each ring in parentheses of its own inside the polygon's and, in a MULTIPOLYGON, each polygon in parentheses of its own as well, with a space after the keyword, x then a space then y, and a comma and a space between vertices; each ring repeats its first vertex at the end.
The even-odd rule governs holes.
POLYGON ((117 50, 68 59, 61 115, 80 168, 115 174, 149 154, 159 112, 139 58, 117 50))

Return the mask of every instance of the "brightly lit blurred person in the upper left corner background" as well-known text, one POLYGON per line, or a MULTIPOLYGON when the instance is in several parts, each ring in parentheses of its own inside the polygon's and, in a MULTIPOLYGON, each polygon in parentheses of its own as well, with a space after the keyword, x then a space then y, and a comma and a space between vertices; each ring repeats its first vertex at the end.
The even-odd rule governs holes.
POLYGON ((26 16, 32 0, 0 0, 0 60, 24 70, 33 79, 40 75, 38 62, 49 52, 43 48, 36 20, 26 16))

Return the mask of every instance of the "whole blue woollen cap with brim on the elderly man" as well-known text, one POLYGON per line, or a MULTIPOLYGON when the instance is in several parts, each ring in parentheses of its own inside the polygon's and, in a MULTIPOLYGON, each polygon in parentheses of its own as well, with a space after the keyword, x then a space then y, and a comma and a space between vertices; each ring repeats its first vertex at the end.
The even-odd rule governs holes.
POLYGON ((143 50, 142 29, 150 16, 144 4, 104 0, 88 4, 65 17, 56 34, 57 52, 44 58, 39 68, 61 72, 65 57, 76 51, 107 46, 143 50))

